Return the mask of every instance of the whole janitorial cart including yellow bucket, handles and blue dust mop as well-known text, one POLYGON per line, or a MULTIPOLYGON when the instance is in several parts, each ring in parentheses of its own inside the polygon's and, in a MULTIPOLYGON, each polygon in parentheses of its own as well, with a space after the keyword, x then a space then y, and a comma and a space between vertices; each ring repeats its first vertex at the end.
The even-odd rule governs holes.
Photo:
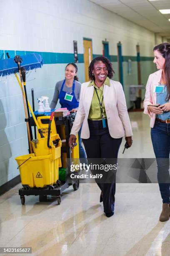
POLYGON ((39 195, 40 201, 51 195, 56 196, 57 202, 60 204, 60 196, 67 187, 73 185, 74 190, 79 188, 79 180, 70 179, 70 165, 73 161, 77 161, 75 159, 79 159, 78 138, 74 149, 70 150, 68 146, 75 114, 72 113, 63 117, 58 113, 54 116, 54 112, 50 113, 50 116, 47 113, 35 115, 32 111, 26 94, 25 70, 41 67, 42 58, 40 55, 34 54, 29 58, 26 55, 23 58, 15 56, 15 61, 10 58, 5 60, 4 65, 5 68, 0 70, 0 75, 7 75, 8 73, 5 72, 10 66, 9 74, 15 73, 20 84, 28 131, 29 154, 15 158, 23 185, 23 188, 19 189, 21 203, 25 204, 25 195, 39 195), (13 65, 14 67, 12 67, 13 65), (19 72, 20 79, 17 72, 19 72), (37 127, 34 139, 32 126, 37 127))

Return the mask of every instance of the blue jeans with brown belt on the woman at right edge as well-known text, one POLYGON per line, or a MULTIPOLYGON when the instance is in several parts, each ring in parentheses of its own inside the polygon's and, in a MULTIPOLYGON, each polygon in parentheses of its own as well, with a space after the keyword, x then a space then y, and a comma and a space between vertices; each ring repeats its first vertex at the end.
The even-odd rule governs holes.
POLYGON ((158 183, 163 203, 170 203, 170 124, 155 120, 151 128, 153 150, 158 166, 158 183), (164 183, 163 183, 164 182, 164 183), (166 182, 166 183, 165 183, 166 182))

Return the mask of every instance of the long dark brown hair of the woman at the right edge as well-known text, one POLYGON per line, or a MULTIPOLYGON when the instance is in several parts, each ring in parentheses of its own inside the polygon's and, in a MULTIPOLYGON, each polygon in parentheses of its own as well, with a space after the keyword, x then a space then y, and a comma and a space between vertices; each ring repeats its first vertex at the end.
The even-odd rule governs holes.
POLYGON ((165 58, 164 72, 168 90, 167 100, 170 100, 170 43, 158 44, 153 48, 153 51, 159 51, 165 58))

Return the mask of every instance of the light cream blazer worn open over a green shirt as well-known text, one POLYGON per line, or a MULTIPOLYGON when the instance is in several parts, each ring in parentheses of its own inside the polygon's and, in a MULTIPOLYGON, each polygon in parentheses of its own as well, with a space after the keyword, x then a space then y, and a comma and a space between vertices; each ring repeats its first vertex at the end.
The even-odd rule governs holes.
MULTIPOLYGON (((94 86, 87 87, 89 83, 85 82, 81 86, 79 108, 70 132, 70 134, 76 135, 82 125, 81 138, 84 139, 90 137, 87 119, 94 93, 94 86)), ((103 100, 110 136, 112 138, 132 136, 125 95, 120 82, 110 80, 110 86, 104 85, 103 100)))

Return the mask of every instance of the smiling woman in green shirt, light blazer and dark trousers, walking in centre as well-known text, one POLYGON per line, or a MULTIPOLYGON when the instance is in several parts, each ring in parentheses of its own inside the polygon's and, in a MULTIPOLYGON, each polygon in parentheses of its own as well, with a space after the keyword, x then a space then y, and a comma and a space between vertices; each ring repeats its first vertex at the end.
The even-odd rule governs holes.
MULTIPOLYGON (((82 125, 81 138, 87 159, 117 159, 124 136, 128 145, 132 145, 133 133, 125 95, 120 82, 111 80, 113 73, 107 58, 96 57, 89 66, 90 82, 81 87, 69 146, 74 147, 75 135, 82 125)), ((100 202, 103 201, 104 212, 110 217, 114 214, 115 182, 97 184, 101 189, 100 202)))

